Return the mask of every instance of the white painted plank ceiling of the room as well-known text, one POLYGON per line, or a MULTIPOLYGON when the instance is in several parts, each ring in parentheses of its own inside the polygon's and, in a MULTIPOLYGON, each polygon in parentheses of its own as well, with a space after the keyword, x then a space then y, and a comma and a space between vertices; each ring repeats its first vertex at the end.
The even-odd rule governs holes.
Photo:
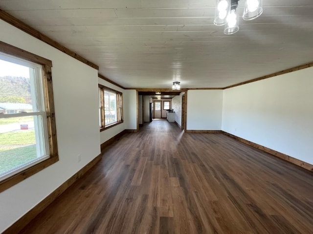
MULTIPOLYGON (((244 0, 239 1, 243 11, 244 0)), ((263 0, 226 36, 215 0, 0 0, 124 87, 225 87, 313 62, 313 0, 263 0)))

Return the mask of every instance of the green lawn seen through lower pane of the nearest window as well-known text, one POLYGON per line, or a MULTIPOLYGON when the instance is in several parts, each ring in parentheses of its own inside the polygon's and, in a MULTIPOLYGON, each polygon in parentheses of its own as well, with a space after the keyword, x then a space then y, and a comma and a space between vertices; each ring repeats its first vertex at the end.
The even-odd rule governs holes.
POLYGON ((34 130, 0 133, 0 174, 36 157, 34 130))

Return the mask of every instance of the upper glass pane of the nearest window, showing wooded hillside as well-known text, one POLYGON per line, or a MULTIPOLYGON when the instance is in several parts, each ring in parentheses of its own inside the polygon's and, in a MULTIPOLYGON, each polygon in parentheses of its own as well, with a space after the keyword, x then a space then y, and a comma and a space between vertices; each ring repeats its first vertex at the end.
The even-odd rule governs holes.
POLYGON ((34 87, 33 68, 0 60, 0 113, 36 111, 34 87))

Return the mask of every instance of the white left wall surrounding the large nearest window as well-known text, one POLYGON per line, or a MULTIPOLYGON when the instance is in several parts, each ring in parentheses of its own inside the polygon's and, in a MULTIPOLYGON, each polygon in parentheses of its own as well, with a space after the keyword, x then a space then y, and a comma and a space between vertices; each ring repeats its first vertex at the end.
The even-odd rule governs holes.
POLYGON ((0 28, 0 41, 52 61, 60 158, 59 162, 0 193, 1 233, 99 155, 100 134, 97 70, 1 20, 0 28))

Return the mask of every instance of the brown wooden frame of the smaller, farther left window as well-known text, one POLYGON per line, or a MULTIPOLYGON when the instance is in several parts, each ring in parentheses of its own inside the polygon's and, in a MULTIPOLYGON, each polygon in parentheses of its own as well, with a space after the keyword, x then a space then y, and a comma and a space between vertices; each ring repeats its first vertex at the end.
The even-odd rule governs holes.
MULTIPOLYGON (((100 113, 101 113, 101 126, 100 126, 100 131, 104 131, 108 128, 112 128, 116 125, 122 124, 124 122, 123 119, 123 93, 119 92, 115 89, 109 88, 107 86, 104 85, 100 85, 98 84, 98 87, 100 88, 100 113), (116 114, 117 114, 117 121, 109 124, 109 125, 105 125, 105 111, 104 111, 104 91, 110 91, 110 92, 114 92, 116 93, 116 114)), ((100 116, 99 116, 100 118, 100 116)), ((99 121, 100 122, 100 121, 99 121)))

